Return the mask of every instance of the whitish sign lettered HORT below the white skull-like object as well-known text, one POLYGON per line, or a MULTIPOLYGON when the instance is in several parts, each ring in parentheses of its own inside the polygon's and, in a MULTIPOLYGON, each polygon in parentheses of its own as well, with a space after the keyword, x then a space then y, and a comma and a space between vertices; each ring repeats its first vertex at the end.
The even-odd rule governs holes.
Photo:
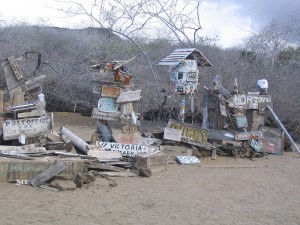
POLYGON ((235 94, 230 98, 230 107, 240 106, 243 109, 258 109, 258 104, 272 102, 270 95, 259 94, 235 94))

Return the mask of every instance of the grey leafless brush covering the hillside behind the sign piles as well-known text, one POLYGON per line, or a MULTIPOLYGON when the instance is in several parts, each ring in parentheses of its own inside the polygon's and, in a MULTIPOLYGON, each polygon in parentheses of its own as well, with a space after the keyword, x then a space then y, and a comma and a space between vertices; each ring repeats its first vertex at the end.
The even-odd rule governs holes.
MULTIPOLYGON (((243 47, 223 49, 209 41, 195 46, 214 65, 200 70, 196 112, 192 115, 199 120, 195 121, 201 120, 202 87, 211 87, 215 75, 223 77, 223 86, 228 90, 233 89, 234 78, 237 78, 240 89, 246 92, 256 91, 256 81, 265 78, 269 81, 274 111, 294 139, 300 140, 300 48, 284 44, 282 40, 287 33, 283 33, 280 26, 269 24, 259 35, 249 38, 243 47)), ((299 33, 296 33, 298 40, 299 33)), ((168 91, 168 68, 157 66, 157 63, 174 49, 185 47, 184 43, 171 43, 164 39, 134 40, 142 46, 146 55, 132 42, 106 29, 65 29, 26 24, 6 26, 0 27, 0 58, 40 52, 42 63, 38 70, 35 70, 36 54, 22 55, 19 65, 27 79, 42 74, 47 76, 43 84, 47 110, 86 113, 98 99, 92 92, 92 74, 96 71, 89 66, 97 61, 126 60, 135 56, 136 60, 129 64, 129 69, 134 76, 135 89, 142 90, 140 112, 146 118, 156 119, 162 109, 162 119, 172 113, 176 117, 178 96, 168 91), (155 76, 145 57, 150 61, 155 76), (161 108, 165 98, 167 104, 161 108), (147 113, 149 111, 151 115, 147 113)), ((5 89, 3 70, 0 77, 0 87, 5 89)))

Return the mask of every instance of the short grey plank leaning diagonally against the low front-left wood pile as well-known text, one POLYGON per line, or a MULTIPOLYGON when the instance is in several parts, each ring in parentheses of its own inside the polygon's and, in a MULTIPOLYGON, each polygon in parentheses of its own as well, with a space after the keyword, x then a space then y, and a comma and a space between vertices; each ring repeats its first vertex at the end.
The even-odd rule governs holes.
POLYGON ((64 169, 66 169, 66 166, 63 162, 56 163, 42 173, 36 175, 32 180, 30 180, 30 183, 33 187, 40 186, 50 178, 62 172, 64 169))

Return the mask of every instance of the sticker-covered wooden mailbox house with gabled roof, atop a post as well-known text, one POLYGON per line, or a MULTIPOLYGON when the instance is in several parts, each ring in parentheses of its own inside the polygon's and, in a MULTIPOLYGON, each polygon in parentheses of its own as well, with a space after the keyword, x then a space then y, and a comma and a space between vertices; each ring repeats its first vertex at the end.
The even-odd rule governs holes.
POLYGON ((193 94, 199 83, 199 67, 212 66, 196 48, 176 49, 158 65, 171 66, 170 89, 179 94, 193 94))

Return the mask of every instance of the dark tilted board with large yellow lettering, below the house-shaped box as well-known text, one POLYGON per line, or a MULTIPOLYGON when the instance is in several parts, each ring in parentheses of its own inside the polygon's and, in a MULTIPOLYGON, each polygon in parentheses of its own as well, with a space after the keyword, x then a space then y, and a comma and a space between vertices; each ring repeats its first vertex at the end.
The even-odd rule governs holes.
POLYGON ((186 123, 180 123, 172 119, 169 120, 167 127, 180 130, 182 142, 195 146, 203 146, 203 144, 207 141, 207 129, 202 129, 186 123))

